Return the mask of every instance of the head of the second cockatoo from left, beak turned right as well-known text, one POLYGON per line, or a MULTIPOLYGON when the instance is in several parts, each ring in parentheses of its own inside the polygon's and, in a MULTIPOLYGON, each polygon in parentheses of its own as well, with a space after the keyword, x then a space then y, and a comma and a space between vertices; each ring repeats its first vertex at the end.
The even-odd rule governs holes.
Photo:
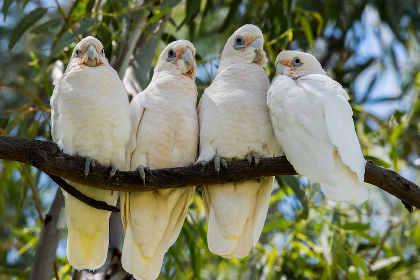
POLYGON ((157 61, 154 72, 169 72, 173 75, 186 75, 195 79, 195 48, 188 40, 176 40, 168 44, 157 61))

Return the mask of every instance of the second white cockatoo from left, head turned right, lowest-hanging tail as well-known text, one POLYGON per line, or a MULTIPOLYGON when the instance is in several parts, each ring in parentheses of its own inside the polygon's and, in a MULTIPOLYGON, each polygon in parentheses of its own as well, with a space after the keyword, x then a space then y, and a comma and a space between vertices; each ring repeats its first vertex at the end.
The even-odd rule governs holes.
MULTIPOLYGON (((149 86, 131 101, 132 134, 126 147, 126 170, 137 169, 144 178, 143 166, 183 167, 197 159, 194 56, 190 41, 170 43, 159 56, 149 86)), ((135 279, 154 280, 159 276, 163 257, 178 238, 194 190, 120 193, 125 230, 122 266, 135 279)))

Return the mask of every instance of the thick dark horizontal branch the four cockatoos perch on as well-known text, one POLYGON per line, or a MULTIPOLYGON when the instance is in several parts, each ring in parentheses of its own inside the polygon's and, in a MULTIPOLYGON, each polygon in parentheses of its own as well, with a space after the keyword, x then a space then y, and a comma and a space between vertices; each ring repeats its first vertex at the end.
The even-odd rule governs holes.
MULTIPOLYGON (((146 174, 144 186, 137 171, 117 171, 107 182, 109 170, 102 166, 95 167, 84 179, 85 159, 64 154, 54 142, 5 136, 0 137, 0 159, 28 163, 46 174, 89 187, 118 191, 152 191, 297 174, 286 157, 275 157, 261 159, 258 167, 249 166, 247 161, 228 163, 228 170, 222 168, 219 175, 210 165, 203 171, 201 166, 153 170, 152 175, 146 174)), ((364 181, 382 188, 409 206, 420 208, 420 188, 392 170, 368 162, 364 181)))

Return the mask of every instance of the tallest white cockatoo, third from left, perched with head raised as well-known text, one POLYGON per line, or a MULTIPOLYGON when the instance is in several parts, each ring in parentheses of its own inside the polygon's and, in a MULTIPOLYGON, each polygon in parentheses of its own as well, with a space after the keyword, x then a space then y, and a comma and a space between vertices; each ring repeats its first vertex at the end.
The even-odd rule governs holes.
MULTIPOLYGON (((279 150, 267 109, 268 77, 261 30, 247 24, 229 37, 217 75, 200 99, 200 143, 196 164, 273 157, 279 150)), ((274 177, 205 186, 203 200, 212 253, 245 257, 260 238, 274 177)))

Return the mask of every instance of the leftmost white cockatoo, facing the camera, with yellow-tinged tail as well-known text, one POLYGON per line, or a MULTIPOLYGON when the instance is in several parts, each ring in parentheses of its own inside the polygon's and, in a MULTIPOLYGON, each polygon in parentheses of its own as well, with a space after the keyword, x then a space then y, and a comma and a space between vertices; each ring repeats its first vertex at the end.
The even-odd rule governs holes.
MULTIPOLYGON (((87 157, 85 175, 95 161, 111 165, 110 176, 122 170, 131 131, 128 96, 101 42, 91 36, 83 38, 64 75, 53 84, 51 134, 58 147, 69 155, 87 157)), ((117 192, 65 181, 88 197, 116 205, 117 192)), ((76 269, 99 268, 107 257, 111 212, 63 193, 69 230, 67 259, 76 269)))

